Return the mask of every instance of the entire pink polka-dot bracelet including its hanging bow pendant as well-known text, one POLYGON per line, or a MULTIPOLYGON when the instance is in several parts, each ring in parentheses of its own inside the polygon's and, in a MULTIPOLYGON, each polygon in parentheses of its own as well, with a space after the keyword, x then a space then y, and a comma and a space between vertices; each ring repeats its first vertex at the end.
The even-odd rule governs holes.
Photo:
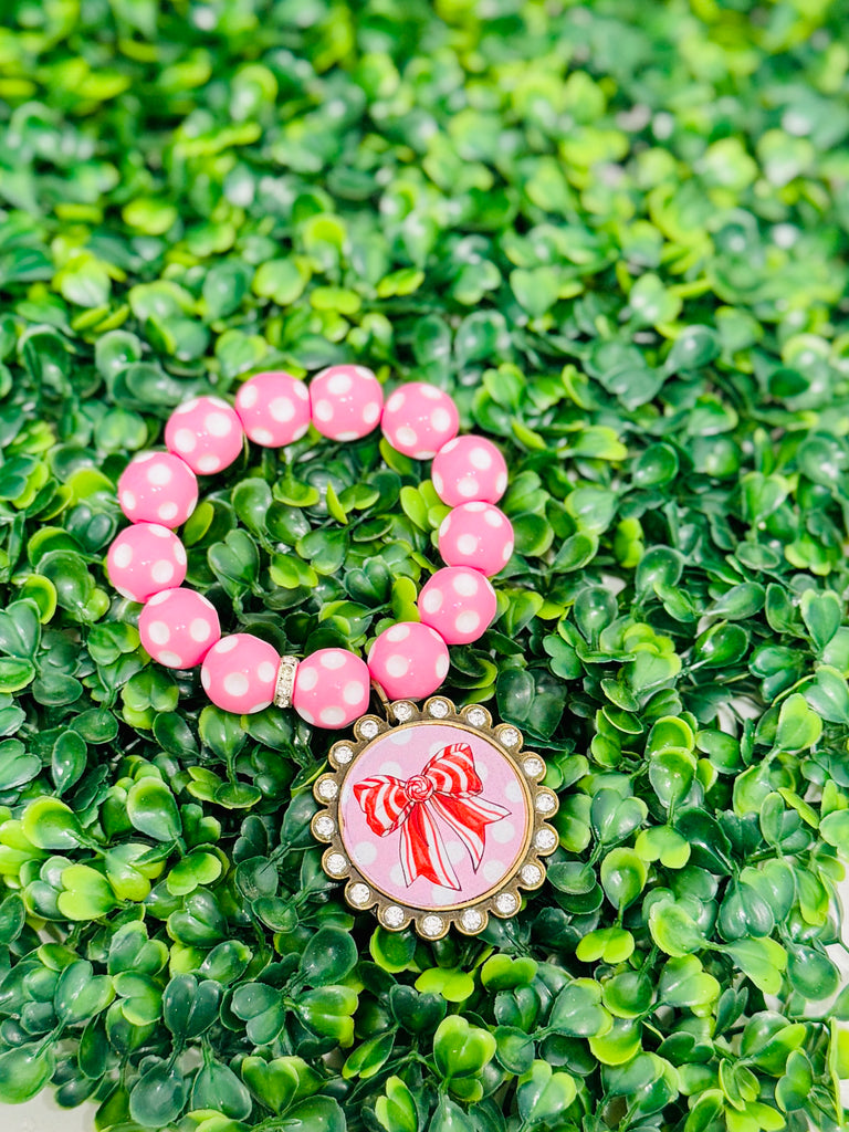
POLYGON ((332 366, 309 388, 289 374, 259 374, 241 386, 234 408, 211 396, 180 405, 165 426, 168 451, 130 461, 118 495, 132 525, 108 554, 112 584, 144 603, 139 634, 152 659, 200 664, 218 707, 252 714, 274 703, 323 728, 354 724, 353 740, 333 745, 332 771, 314 787, 326 807, 311 824, 327 846, 323 867, 346 880, 351 907, 374 909, 391 931, 413 921, 430 940, 452 924, 471 935, 490 914, 515 915, 518 890, 542 884, 540 857, 558 841, 546 824, 557 797, 540 784, 540 756, 521 754, 518 729, 494 726, 480 704, 457 710, 434 695, 448 671, 448 645, 477 641, 491 624, 489 577, 513 554, 513 528, 495 506, 507 488, 504 457, 483 437, 457 430, 453 400, 432 385, 405 385, 384 405, 380 384, 362 366, 332 366), (421 620, 384 629, 368 663, 345 649, 299 660, 249 633, 222 637, 212 602, 182 586, 186 550, 173 533, 197 505, 197 475, 232 464, 246 436, 278 448, 312 423, 345 441, 378 422, 397 452, 434 461, 435 490, 452 508, 438 534, 446 565, 419 593, 421 620), (385 719, 363 715, 372 686, 385 719), (387 838, 397 842, 389 854, 387 838))

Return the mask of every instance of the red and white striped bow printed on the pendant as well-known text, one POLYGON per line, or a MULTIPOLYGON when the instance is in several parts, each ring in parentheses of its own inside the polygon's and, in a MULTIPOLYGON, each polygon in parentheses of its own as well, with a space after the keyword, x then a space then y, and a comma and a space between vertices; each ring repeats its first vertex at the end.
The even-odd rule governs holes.
POLYGON ((401 867, 412 884, 426 876, 446 889, 460 889, 436 818, 457 834, 478 868, 486 848, 486 827, 508 809, 478 797, 483 783, 468 743, 453 743, 434 755, 421 774, 406 782, 375 774, 353 788, 369 827, 379 837, 401 829, 401 867))

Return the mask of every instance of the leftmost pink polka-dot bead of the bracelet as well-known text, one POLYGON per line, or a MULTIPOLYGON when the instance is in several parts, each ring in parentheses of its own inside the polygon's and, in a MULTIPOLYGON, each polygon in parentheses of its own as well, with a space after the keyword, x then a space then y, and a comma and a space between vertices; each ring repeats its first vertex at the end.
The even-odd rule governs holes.
POLYGON ((112 585, 130 601, 147 601, 186 577, 186 548, 158 523, 135 523, 112 541, 106 555, 112 585))

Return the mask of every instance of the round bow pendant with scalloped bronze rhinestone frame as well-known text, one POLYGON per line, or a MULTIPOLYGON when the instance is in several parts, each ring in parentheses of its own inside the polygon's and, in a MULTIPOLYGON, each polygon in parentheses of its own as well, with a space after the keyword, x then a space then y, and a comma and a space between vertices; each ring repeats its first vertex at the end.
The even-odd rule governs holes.
POLYGON ((346 880, 351 907, 374 909, 394 932, 412 921, 427 940, 452 924, 474 935, 490 915, 514 916, 520 890, 542 884, 540 858, 558 843, 546 824, 557 796, 539 784, 542 758, 480 704, 401 700, 388 715, 359 719, 315 783, 325 872, 346 880))

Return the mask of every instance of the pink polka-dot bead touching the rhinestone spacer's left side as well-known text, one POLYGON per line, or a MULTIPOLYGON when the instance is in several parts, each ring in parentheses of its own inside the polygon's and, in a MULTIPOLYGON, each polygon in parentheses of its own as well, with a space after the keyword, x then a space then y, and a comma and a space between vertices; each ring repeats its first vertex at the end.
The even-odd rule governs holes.
POLYGON ((204 657, 200 683, 212 702, 235 715, 252 715, 274 700, 280 654, 250 633, 222 637, 204 657))

